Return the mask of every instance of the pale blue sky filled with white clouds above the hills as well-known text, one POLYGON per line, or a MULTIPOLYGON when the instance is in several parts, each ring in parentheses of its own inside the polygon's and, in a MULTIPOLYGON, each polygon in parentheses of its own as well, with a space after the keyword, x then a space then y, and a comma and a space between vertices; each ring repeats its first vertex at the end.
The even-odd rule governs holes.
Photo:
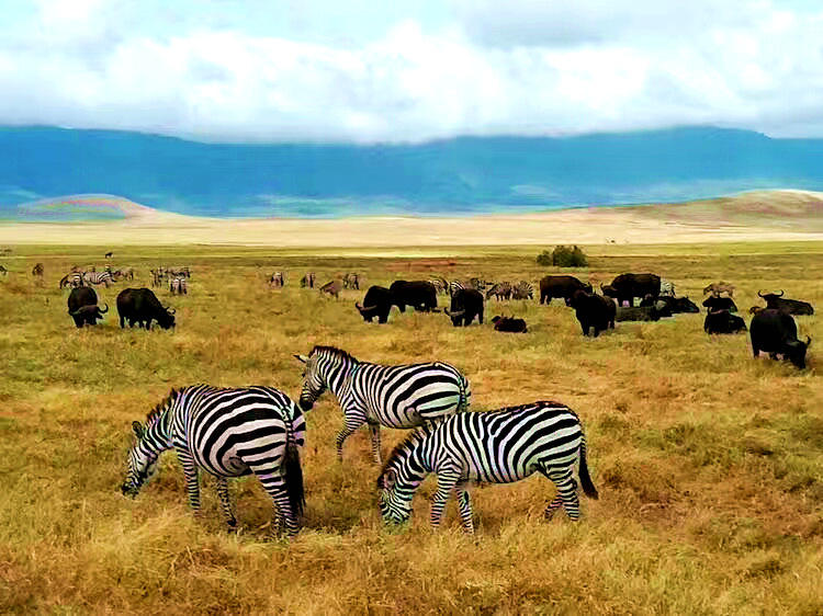
POLYGON ((823 137, 819 0, 0 0, 0 15, 2 125, 215 141, 707 124, 823 137))

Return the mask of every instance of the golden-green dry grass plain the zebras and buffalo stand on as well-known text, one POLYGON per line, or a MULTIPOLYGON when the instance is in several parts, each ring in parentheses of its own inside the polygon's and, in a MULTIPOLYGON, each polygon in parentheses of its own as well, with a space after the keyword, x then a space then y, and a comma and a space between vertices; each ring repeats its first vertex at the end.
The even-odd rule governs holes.
MULTIPOLYGON (((297 288, 356 271, 365 284, 483 275, 537 282, 551 269, 532 248, 289 250, 12 247, 0 278, 0 612, 2 613, 608 613, 823 612, 823 386, 810 369, 751 356, 744 335, 710 338, 703 316, 618 323, 580 335, 555 303, 489 304, 521 316, 527 335, 454 329, 443 315, 392 313, 364 323, 340 300, 297 288), (178 327, 122 331, 114 299, 103 324, 76 330, 57 282, 70 265, 188 264, 190 295, 171 298, 178 327), (45 264, 45 280, 31 267, 45 264), (264 277, 285 270, 288 286, 264 277), (173 386, 268 384, 298 396, 292 353, 334 344, 385 363, 442 360, 471 379, 475 410, 537 399, 568 403, 584 422, 599 501, 584 520, 542 521, 554 488, 542 477, 473 491, 477 534, 450 503, 429 528, 435 480, 410 525, 383 527, 364 433, 334 455, 341 423, 330 396, 307 417, 307 512, 298 538, 266 543, 271 501, 253 479, 234 482, 240 531, 227 535, 203 480, 204 513, 188 510, 173 454, 134 501, 119 491, 129 423, 173 386)), ((575 273, 608 281, 654 271, 702 297, 737 285, 742 309, 759 288, 823 306, 823 244, 587 247, 575 273)), ((555 271, 556 272, 556 271, 555 271)), ((802 334, 823 342, 815 317, 802 334)), ((384 431, 384 455, 403 437, 384 431)))

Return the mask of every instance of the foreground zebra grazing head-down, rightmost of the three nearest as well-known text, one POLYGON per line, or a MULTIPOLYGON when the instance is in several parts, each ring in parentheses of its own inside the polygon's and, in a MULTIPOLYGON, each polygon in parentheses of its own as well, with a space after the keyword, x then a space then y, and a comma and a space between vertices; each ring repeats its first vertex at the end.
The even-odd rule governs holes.
POLYGON ((511 483, 538 471, 551 479, 559 492, 544 516, 551 520, 563 506, 568 517, 577 521, 577 482, 572 477, 577 461, 584 493, 597 499, 580 420, 565 404, 538 401, 460 413, 437 425, 418 427, 395 447, 377 479, 381 514, 385 523, 406 522, 415 491, 435 472, 438 490, 431 503, 431 525, 440 525, 454 491, 463 529, 473 534, 470 482, 511 483))

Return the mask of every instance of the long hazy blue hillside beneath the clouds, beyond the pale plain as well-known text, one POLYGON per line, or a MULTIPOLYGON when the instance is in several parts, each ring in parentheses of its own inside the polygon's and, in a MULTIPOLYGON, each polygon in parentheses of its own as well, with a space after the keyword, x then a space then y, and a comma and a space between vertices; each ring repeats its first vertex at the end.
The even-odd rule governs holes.
MULTIPOLYGON (((89 194, 217 217, 460 215, 667 203, 749 190, 823 191, 821 160, 821 139, 719 128, 406 146, 225 145, 136 133, 0 128, 0 218, 50 219, 42 199, 89 194), (29 205, 18 208, 21 204, 29 205)), ((82 212, 119 216, 117 208, 86 206, 72 216, 82 212)))

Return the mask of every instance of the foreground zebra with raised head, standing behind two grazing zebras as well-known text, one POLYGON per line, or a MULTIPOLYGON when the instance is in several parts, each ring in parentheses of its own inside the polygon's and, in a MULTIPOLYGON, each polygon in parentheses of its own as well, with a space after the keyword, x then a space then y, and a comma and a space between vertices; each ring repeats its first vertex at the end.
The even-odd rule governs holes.
POLYGON ((308 411, 328 388, 343 412, 337 434, 337 458, 358 427, 369 424, 372 455, 380 464, 380 426, 415 427, 440 421, 469 408, 469 380, 450 364, 384 366, 360 362, 334 346, 315 346, 308 356, 295 355, 306 367, 300 406, 308 411))

